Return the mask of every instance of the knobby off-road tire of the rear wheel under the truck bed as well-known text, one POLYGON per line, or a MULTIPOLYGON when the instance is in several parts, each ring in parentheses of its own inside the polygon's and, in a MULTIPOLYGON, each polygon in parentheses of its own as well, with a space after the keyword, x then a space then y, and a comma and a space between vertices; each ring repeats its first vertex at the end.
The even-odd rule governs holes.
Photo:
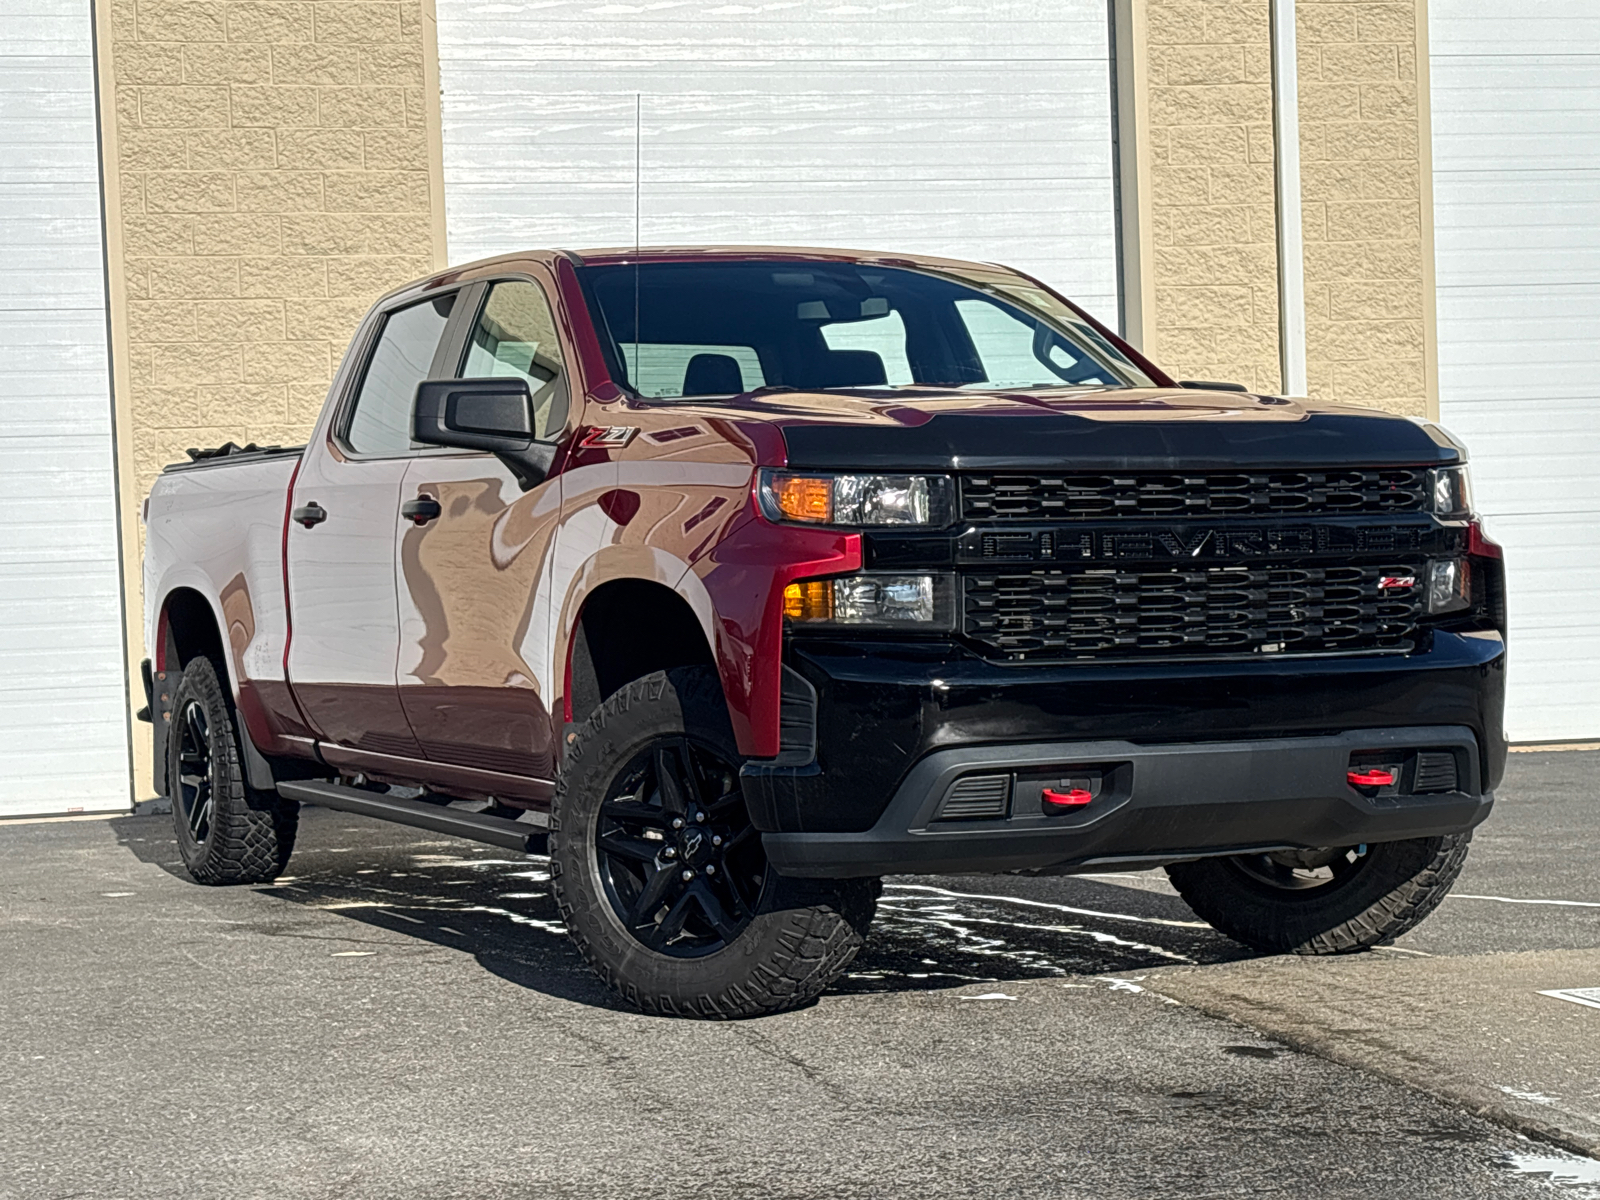
POLYGON ((173 718, 166 742, 166 795, 173 802, 173 832, 189 878, 195 883, 266 883, 283 874, 299 805, 277 792, 258 792, 245 781, 240 762, 240 730, 234 706, 218 682, 216 667, 195 658, 184 667, 173 698, 173 718), (192 816, 184 808, 181 747, 190 704, 205 717, 210 752, 211 814, 195 837, 192 816))

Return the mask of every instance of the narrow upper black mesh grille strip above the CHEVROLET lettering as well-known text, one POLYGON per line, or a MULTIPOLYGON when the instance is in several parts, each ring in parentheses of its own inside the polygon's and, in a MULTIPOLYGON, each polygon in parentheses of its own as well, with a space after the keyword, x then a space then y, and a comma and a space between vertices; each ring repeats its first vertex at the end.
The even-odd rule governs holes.
POLYGON ((962 478, 966 520, 1267 517, 1422 512, 1427 472, 1366 470, 989 474, 962 478))

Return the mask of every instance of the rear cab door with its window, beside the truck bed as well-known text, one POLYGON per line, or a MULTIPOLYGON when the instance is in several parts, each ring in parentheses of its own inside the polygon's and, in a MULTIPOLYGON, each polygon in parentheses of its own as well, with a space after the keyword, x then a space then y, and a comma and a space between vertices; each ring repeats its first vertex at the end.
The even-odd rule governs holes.
POLYGON ((290 501, 290 685, 323 741, 357 750, 421 755, 395 688, 395 530, 416 386, 435 374, 456 301, 450 291, 382 315, 290 501))

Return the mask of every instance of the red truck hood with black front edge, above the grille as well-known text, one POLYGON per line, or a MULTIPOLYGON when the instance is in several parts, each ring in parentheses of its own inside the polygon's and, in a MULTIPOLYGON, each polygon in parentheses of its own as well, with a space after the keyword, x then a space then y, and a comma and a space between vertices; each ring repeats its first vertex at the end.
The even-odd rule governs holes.
POLYGON ((1181 387, 778 392, 718 408, 778 426, 789 466, 827 470, 1320 469, 1466 459, 1432 422, 1181 387))

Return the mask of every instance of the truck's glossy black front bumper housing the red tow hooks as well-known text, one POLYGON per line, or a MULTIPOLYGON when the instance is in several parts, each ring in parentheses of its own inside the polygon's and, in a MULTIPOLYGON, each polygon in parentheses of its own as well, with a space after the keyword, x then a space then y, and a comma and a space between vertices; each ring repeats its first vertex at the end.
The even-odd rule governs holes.
MULTIPOLYGON (((1330 838, 1376 842, 1451 832, 1483 819, 1506 763, 1506 645, 1494 635, 1442 632, 1426 653, 1397 658, 1088 667, 998 666, 949 643, 795 640, 787 661, 816 693, 814 757, 808 749, 749 763, 744 795, 774 861, 786 870, 818 875, 837 874, 824 867, 829 861, 856 874, 987 870, 1018 869, 979 866, 1011 862, 1013 851, 1027 859, 1026 867, 1045 859, 1181 856, 1269 842, 1325 846, 1336 843, 1330 838), (1472 760, 1470 771, 1462 766, 1462 792, 1454 800, 1418 800, 1416 813, 1432 813, 1432 824, 1421 832, 1411 816, 1387 808, 1363 814, 1362 797, 1344 784, 1344 766, 1333 773, 1331 792, 1302 776, 1314 766, 1331 770, 1317 765, 1322 758, 1307 749, 1312 742, 1347 746, 1347 738, 1371 742, 1395 733, 1421 736, 1418 730, 1432 731, 1427 736, 1435 741, 1424 738, 1414 746, 1434 746, 1448 731, 1446 742, 1472 760), (1150 763, 1142 771, 1157 771, 1157 762, 1186 760, 1229 763, 1234 771, 1245 752, 1243 762, 1256 763, 1238 768, 1245 778, 1282 771, 1282 779, 1301 782, 1283 782, 1269 794, 1224 789, 1205 802, 1194 789, 1157 795, 1141 782, 1138 803, 1130 794, 1128 811, 1096 819, 1090 822, 1094 829, 1082 832, 1056 822, 1040 830, 941 824, 931 834, 915 834, 918 803, 926 802, 917 781, 933 770, 930 763, 1016 760, 1032 770, 1083 763, 1091 749, 1091 757, 1107 762, 1150 763), (1197 805, 1203 816, 1195 814, 1197 805), (1221 805, 1230 805, 1230 816, 1218 813, 1221 805), (1112 830, 1120 832, 1112 837, 1112 830), (1013 834, 1038 834, 1045 842, 1037 853, 1018 850, 1008 840, 1013 834), (958 842, 963 850, 946 850, 958 842), (893 853, 885 858, 866 850, 874 843, 885 853, 893 843, 893 853), (930 866, 936 862, 965 866, 930 866)), ((786 699, 786 725, 790 715, 797 714, 787 712, 786 699)), ((789 741, 786 731, 786 746, 789 741)), ((1349 750, 1342 754, 1347 766, 1349 750)))

